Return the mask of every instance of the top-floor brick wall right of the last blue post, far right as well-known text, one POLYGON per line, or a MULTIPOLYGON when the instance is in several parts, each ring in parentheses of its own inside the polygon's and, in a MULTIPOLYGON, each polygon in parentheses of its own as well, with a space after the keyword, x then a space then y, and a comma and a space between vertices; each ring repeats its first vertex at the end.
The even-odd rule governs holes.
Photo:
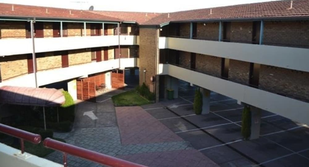
POLYGON ((309 21, 265 21, 264 43, 309 45, 309 21))

